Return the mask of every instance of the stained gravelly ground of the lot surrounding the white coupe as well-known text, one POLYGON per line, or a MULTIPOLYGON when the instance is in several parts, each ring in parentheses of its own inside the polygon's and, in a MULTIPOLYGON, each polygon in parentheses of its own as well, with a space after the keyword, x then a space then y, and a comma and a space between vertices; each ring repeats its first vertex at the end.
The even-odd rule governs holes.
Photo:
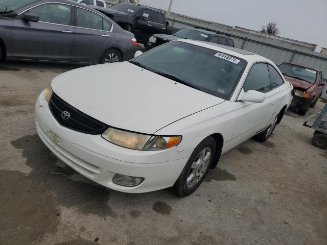
POLYGON ((327 244, 327 152, 294 108, 267 142, 222 156, 189 197, 121 193, 76 173, 36 134, 37 95, 73 68, 0 64, 0 244, 327 244))

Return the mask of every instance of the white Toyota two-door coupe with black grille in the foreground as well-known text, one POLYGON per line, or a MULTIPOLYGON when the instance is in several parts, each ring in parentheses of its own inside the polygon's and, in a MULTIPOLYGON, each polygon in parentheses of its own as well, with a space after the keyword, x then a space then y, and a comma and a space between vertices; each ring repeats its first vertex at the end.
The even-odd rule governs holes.
POLYGON ((114 190, 191 194, 221 154, 266 140, 292 100, 272 61, 237 48, 177 40, 136 53, 57 76, 35 105, 44 144, 114 190))

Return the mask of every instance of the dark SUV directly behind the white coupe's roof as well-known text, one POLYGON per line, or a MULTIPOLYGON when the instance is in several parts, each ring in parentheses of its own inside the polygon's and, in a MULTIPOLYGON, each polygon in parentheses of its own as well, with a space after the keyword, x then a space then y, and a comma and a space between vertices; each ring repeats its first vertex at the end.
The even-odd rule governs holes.
POLYGON ((228 36, 217 34, 212 31, 198 29, 198 28, 183 28, 180 29, 178 32, 174 33, 173 35, 165 35, 165 34, 152 35, 149 38, 149 42, 146 48, 147 50, 150 50, 153 47, 177 39, 192 39, 192 40, 219 43, 222 45, 234 47, 233 40, 228 36))

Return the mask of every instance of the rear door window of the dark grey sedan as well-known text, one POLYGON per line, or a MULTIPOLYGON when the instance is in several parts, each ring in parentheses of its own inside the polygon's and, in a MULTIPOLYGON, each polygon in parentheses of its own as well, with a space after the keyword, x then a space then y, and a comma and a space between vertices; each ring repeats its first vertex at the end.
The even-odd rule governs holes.
POLYGON ((86 9, 77 8, 76 26, 102 31, 102 16, 86 9))

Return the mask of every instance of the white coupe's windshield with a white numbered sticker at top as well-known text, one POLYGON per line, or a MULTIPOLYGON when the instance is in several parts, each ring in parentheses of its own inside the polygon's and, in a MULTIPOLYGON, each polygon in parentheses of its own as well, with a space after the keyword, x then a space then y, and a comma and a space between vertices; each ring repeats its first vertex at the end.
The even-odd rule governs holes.
POLYGON ((130 61, 161 76, 229 100, 246 61, 226 53, 172 41, 130 61))

